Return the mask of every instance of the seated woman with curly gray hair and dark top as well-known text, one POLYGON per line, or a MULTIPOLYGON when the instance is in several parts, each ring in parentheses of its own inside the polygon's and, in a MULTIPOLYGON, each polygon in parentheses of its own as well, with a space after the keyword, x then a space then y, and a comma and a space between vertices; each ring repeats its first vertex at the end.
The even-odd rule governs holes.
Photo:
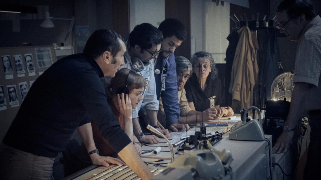
POLYGON ((220 107, 222 102, 221 80, 217 78, 218 70, 213 56, 208 52, 199 51, 192 56, 191 63, 194 75, 185 85, 189 107, 196 111, 216 108, 218 113, 215 118, 233 116, 232 108, 220 107))

